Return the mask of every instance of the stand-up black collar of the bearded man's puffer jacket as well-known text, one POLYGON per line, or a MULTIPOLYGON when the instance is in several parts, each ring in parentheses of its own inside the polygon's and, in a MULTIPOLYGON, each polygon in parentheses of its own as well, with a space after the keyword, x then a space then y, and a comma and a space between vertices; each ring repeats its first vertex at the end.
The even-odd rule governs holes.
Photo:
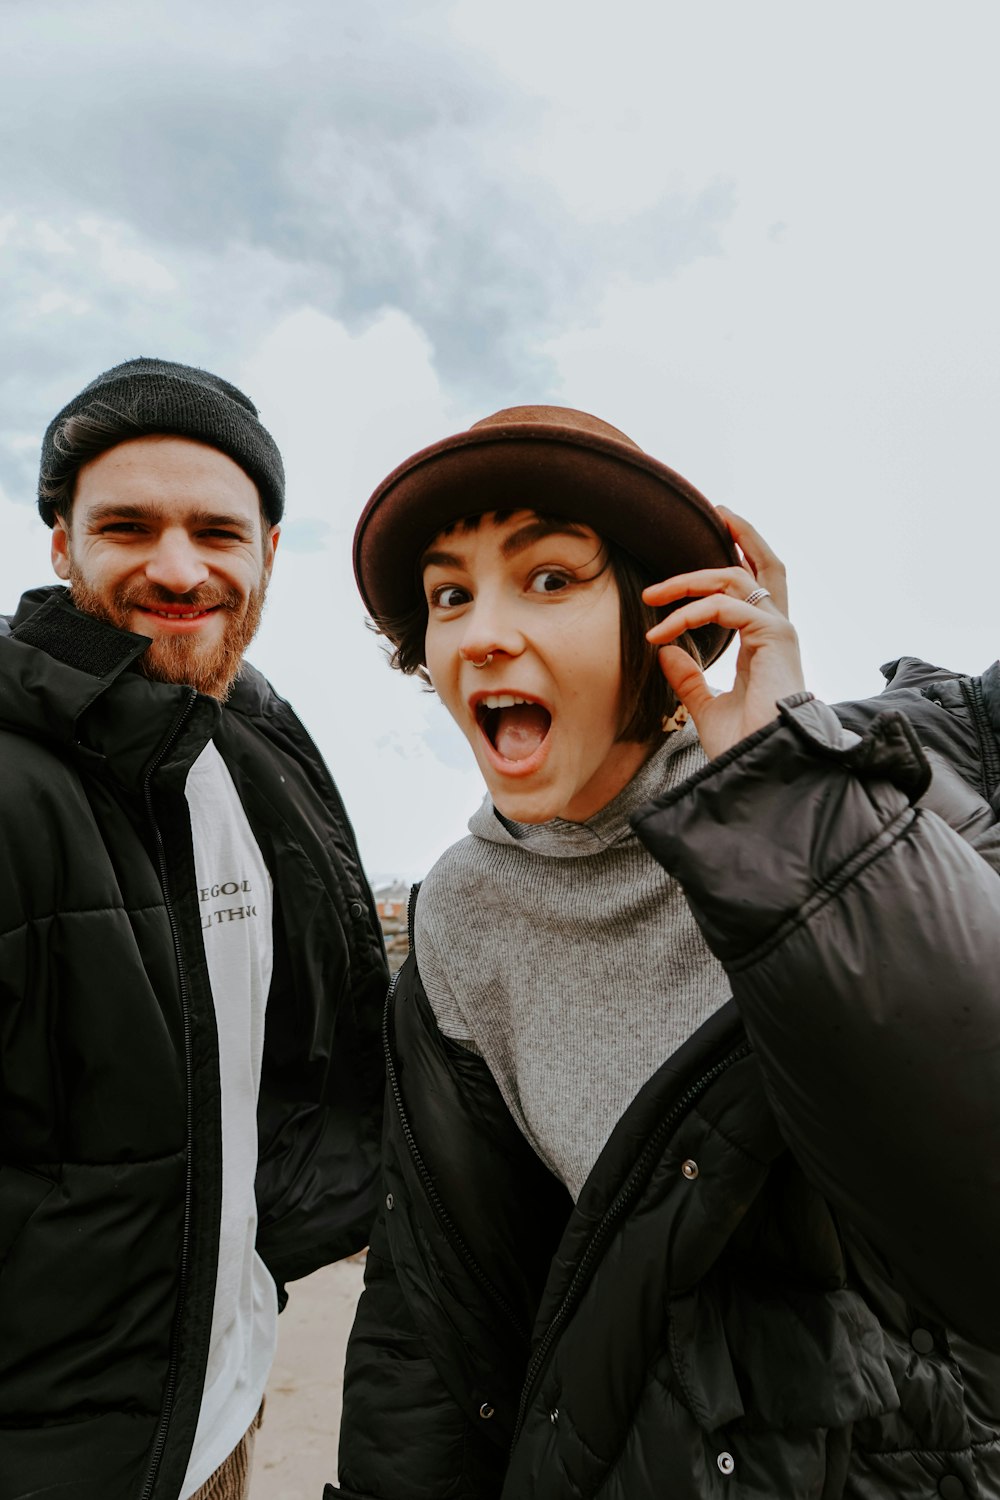
POLYGON ((61 586, 31 590, 0 638, 0 728, 54 742, 133 788, 154 765, 190 765, 219 704, 136 672, 147 646, 145 636, 76 609, 61 586))

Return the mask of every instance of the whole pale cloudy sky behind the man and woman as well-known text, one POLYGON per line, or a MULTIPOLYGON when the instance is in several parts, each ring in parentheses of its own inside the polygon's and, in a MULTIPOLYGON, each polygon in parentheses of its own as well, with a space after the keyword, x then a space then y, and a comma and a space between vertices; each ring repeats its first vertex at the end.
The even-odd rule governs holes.
POLYGON ((999 42, 987 0, 0 0, 1 608, 49 576, 48 418, 153 354, 285 453, 252 658, 372 874, 480 784, 364 630, 354 522, 499 406, 594 411, 748 514, 820 696, 984 668, 999 42))

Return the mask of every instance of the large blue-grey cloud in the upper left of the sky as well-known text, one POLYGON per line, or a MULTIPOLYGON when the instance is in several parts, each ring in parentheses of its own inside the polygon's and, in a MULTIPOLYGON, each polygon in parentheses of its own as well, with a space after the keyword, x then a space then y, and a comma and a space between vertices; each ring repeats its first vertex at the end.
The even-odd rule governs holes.
MULTIPOLYGON (((546 108, 456 44, 445 4, 289 0, 280 26, 258 8, 235 34, 232 14, 175 0, 165 24, 151 0, 94 0, 81 26, 37 0, 12 18, 7 196, 31 216, 99 220, 108 303, 136 291, 142 308, 159 294, 183 312, 205 262, 225 273, 237 248, 267 252, 282 312, 306 303, 357 330, 399 308, 445 380, 501 405, 549 378, 540 336, 609 274, 717 249, 732 204, 714 183, 655 174, 631 218, 562 194, 546 108)), ((237 351, 246 314, 220 276, 216 290, 217 309, 199 310, 237 351)), ((132 312, 117 302, 120 327, 132 312)))

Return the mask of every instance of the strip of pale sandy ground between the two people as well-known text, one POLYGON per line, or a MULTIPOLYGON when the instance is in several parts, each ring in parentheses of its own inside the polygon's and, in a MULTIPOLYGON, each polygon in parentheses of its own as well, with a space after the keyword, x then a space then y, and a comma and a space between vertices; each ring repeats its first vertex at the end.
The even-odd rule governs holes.
POLYGON ((336 1479, 343 1350, 363 1276, 358 1256, 289 1282, 250 1500, 321 1500, 336 1479))

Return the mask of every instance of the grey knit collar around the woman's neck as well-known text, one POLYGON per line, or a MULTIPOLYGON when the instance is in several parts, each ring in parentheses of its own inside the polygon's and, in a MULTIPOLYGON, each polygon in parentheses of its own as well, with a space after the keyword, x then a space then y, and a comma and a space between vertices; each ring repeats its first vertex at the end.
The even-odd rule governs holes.
POLYGON ((565 818, 553 818, 547 824, 516 824, 504 818, 486 796, 469 819, 469 832, 489 843, 517 844, 531 854, 556 860, 600 854, 622 838, 634 837, 628 819, 637 807, 679 786, 703 764, 705 752, 694 724, 687 723, 684 729, 667 735, 618 796, 586 822, 573 824, 565 818))

